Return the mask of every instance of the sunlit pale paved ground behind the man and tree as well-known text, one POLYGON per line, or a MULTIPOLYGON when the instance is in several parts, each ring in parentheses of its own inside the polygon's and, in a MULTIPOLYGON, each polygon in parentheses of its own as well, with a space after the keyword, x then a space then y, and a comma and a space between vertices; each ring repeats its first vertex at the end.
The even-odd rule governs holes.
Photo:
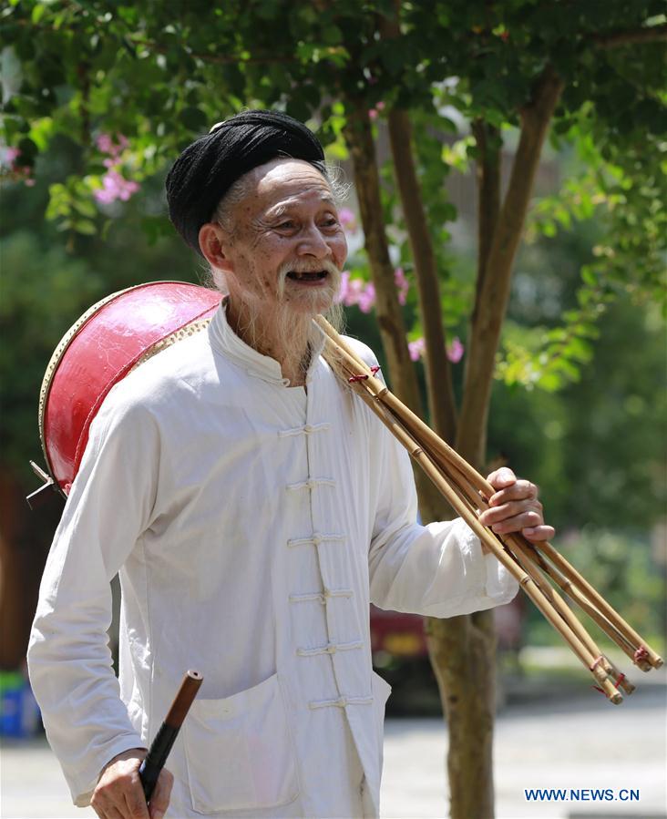
MULTIPOLYGON (((655 674, 655 672, 653 672, 655 674)), ((657 675, 656 675, 657 676, 657 675)), ((620 707, 583 688, 512 705, 498 717, 498 819, 667 816, 667 686, 641 688, 620 707), (639 789, 638 802, 528 803, 525 788, 639 789)), ((437 719, 391 719, 385 728, 382 814, 386 819, 447 815, 446 729, 437 719)), ((45 742, 4 742, 0 755, 4 819, 94 816, 73 808, 45 742)))

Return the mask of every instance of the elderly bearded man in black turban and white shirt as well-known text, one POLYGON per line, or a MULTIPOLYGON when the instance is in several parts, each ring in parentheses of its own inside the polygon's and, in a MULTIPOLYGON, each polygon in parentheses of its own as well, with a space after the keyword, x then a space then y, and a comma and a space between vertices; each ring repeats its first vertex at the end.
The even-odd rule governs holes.
MULTIPOLYGON (((369 600, 449 617, 516 584, 462 521, 416 523, 408 456, 320 355, 312 318, 346 246, 313 134, 231 118, 181 154, 168 200, 225 295, 91 427, 29 650, 49 740, 76 804, 105 819, 375 816, 389 689, 369 600), (205 681, 147 808, 143 749, 189 667, 205 681)), ((534 486, 490 480, 485 523, 552 535, 534 486)))

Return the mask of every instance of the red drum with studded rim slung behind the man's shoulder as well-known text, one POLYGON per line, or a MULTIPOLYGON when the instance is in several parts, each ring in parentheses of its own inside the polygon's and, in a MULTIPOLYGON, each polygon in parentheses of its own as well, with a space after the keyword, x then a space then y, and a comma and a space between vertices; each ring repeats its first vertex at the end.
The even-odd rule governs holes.
POLYGON ((39 394, 46 466, 67 495, 88 429, 114 384, 151 355, 210 321, 221 294, 186 282, 149 282, 112 293, 65 333, 39 394))

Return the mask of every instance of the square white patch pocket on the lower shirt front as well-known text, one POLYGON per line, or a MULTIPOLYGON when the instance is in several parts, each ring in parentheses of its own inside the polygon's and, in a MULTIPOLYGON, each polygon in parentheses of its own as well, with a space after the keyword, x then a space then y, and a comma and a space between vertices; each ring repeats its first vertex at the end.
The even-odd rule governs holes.
POLYGON ((299 795, 277 674, 224 700, 195 700, 183 734, 190 797, 198 813, 277 807, 299 795))

